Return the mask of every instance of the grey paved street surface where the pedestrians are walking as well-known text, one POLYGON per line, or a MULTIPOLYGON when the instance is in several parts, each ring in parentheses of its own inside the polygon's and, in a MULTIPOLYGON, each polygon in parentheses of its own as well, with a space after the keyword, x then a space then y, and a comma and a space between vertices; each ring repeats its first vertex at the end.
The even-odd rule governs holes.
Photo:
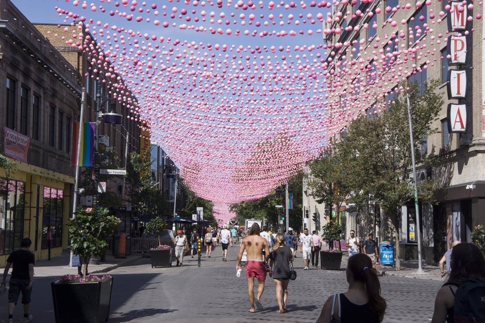
MULTIPOLYGON (((141 259, 130 266, 113 270, 113 299, 109 322, 159 323, 246 323, 315 322, 325 299, 347 288, 345 271, 303 270, 301 256, 296 259, 298 278, 290 282, 288 310, 277 314, 275 284, 267 280, 261 313, 248 313, 247 284, 236 277, 237 248, 229 248, 228 261, 223 262, 217 247, 212 257, 186 258, 181 268, 154 268, 150 259, 141 259), (317 296, 311 296, 317 295, 317 296)), ((174 263, 175 265, 175 263, 174 263)), ((34 322, 54 322, 50 282, 55 277, 36 278, 32 291, 34 322)), ((441 282, 405 277, 382 277, 383 296, 388 300, 384 322, 430 322, 436 291, 441 282)), ((3 296, 0 302, 7 302, 3 296)), ((17 318, 22 316, 16 307, 17 318)), ((6 322, 6 306, 0 306, 0 323, 6 322), (3 320, 2 320, 3 319, 3 320)), ((16 322, 21 322, 17 319, 16 322)))

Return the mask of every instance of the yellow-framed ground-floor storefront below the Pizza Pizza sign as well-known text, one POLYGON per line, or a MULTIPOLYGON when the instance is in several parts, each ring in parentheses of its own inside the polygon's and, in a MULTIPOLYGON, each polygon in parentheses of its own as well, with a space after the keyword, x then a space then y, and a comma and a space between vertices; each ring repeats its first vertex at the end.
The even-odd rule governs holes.
POLYGON ((69 190, 74 178, 16 162, 7 179, 0 169, 0 265, 32 239, 35 260, 59 256, 67 247, 65 224, 69 217, 69 190))

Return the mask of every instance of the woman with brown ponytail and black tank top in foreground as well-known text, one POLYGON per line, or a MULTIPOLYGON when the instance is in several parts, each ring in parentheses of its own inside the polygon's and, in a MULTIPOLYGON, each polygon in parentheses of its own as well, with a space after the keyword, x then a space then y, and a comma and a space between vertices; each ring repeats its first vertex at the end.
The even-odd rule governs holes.
POLYGON ((386 300, 372 261, 358 253, 349 258, 348 292, 328 297, 316 323, 377 323, 384 319, 386 300))

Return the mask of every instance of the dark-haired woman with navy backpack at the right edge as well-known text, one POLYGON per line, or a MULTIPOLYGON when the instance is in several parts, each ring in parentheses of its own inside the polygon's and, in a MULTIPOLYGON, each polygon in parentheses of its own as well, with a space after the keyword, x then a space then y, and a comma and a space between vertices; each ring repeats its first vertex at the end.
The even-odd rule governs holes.
POLYGON ((453 246, 448 282, 437 292, 431 323, 485 322, 485 259, 469 243, 453 246))

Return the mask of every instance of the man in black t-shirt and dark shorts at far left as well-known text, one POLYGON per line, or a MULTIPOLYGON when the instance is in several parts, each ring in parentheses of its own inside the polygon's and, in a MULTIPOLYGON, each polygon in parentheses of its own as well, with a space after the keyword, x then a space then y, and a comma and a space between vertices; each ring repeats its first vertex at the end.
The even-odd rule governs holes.
POLYGON ((12 276, 10 277, 10 284, 8 290, 8 321, 14 322, 14 308, 17 304, 18 296, 22 292, 22 304, 24 305, 24 318, 22 322, 32 321, 32 314, 29 313, 33 283, 33 265, 35 257, 29 251, 32 245, 32 240, 29 238, 22 239, 20 244, 21 249, 12 252, 7 259, 5 270, 3 271, 3 279, 1 286, 5 285, 8 270, 12 267, 12 276))

